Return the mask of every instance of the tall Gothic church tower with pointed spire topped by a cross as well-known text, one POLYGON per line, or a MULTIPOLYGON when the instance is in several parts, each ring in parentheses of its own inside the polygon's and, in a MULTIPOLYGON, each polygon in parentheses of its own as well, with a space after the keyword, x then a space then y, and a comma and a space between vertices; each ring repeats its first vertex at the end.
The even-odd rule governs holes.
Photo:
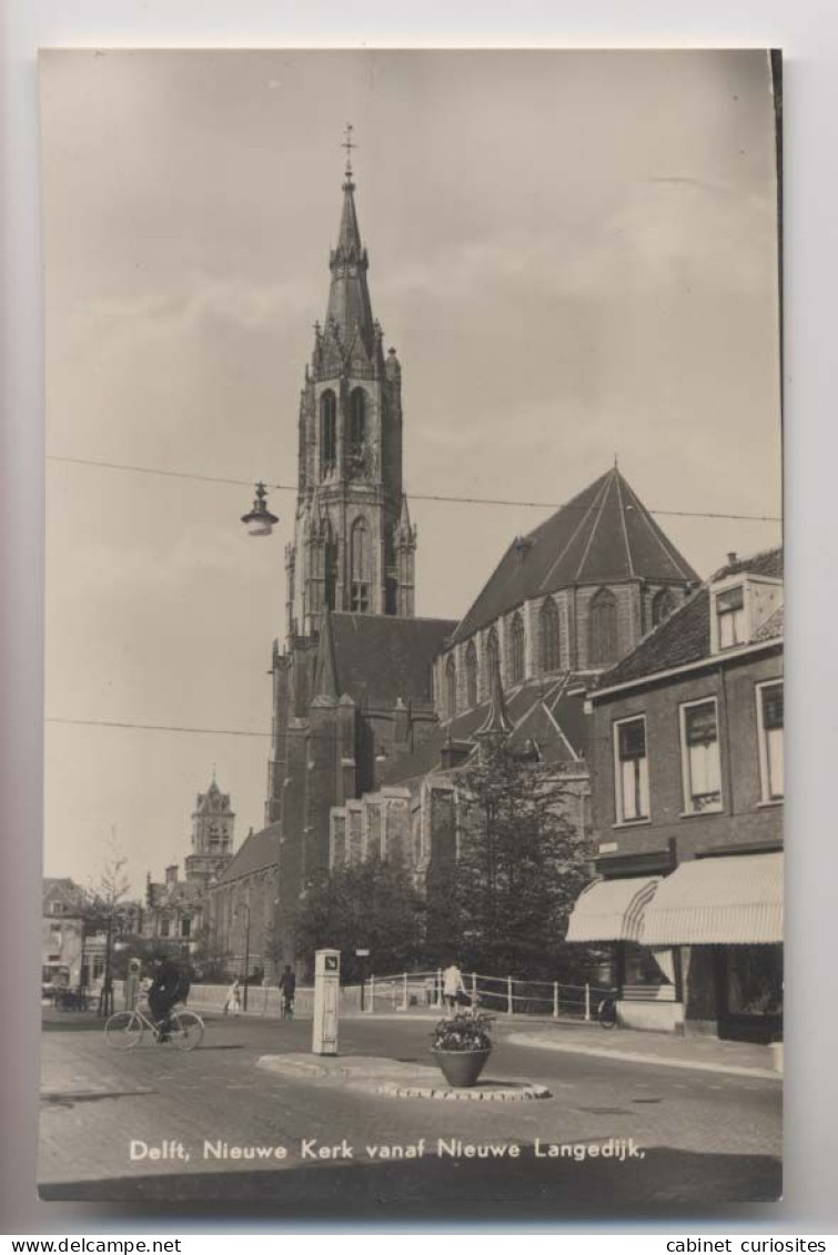
POLYGON ((300 397, 299 489, 286 550, 287 639, 330 610, 414 615, 416 532, 401 487, 401 366, 373 318, 346 129, 344 205, 325 323, 300 397))

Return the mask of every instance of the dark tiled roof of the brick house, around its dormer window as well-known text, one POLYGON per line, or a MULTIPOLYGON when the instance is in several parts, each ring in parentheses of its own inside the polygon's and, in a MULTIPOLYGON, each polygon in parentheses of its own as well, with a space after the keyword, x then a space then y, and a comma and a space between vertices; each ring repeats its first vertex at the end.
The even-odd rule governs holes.
MULTIPOLYGON (((783 579, 783 550, 766 550, 749 558, 736 558, 716 571, 710 584, 730 575, 763 575, 783 579)), ((605 671, 597 688, 610 689, 616 684, 642 679, 657 671, 669 671, 687 663, 697 663, 710 656, 710 584, 703 585, 684 605, 659 624, 640 641, 634 653, 605 671)), ((779 639, 783 629, 782 607, 754 634, 754 643, 779 639), (779 616, 779 617, 778 617, 779 616), (764 635, 768 634, 768 635, 764 635)), ((596 689, 592 692, 596 698, 596 689)))

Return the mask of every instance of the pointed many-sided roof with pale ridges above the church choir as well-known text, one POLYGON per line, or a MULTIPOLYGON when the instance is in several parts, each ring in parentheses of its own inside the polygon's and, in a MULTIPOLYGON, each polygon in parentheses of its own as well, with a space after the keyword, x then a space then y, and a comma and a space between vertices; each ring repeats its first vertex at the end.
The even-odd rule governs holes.
POLYGON ((699 581, 615 466, 513 541, 453 640, 465 640, 531 597, 630 579, 699 581))

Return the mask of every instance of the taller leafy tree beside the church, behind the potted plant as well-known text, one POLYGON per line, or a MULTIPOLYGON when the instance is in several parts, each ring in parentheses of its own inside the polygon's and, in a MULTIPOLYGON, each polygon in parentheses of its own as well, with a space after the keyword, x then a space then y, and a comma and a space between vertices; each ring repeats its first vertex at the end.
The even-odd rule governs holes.
POLYGON ((562 941, 590 880, 568 818, 576 797, 554 768, 522 761, 501 735, 484 740, 457 784, 457 857, 430 890, 432 958, 457 955, 460 966, 487 974, 568 979, 562 941))

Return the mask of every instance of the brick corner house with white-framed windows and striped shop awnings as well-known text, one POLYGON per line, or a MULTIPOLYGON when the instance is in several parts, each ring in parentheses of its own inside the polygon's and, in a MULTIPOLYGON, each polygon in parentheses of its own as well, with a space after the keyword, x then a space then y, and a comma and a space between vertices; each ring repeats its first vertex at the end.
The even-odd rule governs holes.
POLYGON ((590 694, 596 866, 639 1027, 782 1029, 783 553, 731 561, 590 694))

